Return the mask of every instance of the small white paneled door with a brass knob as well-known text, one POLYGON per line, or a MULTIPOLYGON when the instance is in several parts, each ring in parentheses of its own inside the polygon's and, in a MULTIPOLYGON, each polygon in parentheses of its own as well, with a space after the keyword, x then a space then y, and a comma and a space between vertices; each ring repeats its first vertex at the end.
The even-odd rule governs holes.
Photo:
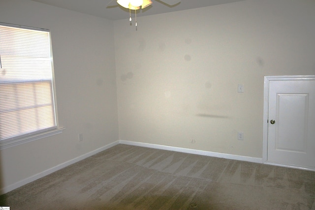
POLYGON ((315 169, 315 80, 270 80, 267 162, 315 169))

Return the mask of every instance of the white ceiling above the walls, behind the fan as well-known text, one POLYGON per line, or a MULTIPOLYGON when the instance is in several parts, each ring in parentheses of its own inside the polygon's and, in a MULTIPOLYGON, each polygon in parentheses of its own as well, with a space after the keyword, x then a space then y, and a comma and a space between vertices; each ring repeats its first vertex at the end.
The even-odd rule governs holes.
MULTIPOLYGON (((119 6, 116 0, 33 0, 61 8, 90 14, 109 20, 121 20, 129 18, 129 10, 119 6)), ((137 10, 137 15, 146 16, 166 12, 174 12, 205 6, 213 6, 224 3, 232 3, 242 0, 181 0, 180 3, 170 6, 162 0, 152 0, 153 4, 141 11, 137 10)))

